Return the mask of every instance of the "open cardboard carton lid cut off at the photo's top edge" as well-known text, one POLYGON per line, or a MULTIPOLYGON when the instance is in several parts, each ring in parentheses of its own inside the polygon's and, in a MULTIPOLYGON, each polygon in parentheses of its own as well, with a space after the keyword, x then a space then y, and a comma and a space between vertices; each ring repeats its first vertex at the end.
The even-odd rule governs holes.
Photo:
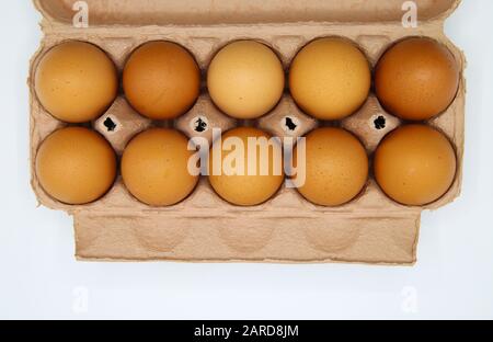
MULTIPOLYGON (((460 0, 415 0, 421 21, 448 16, 460 0)), ((400 22, 403 0, 35 0, 44 18, 70 24, 87 3, 91 25, 219 25, 400 22)))

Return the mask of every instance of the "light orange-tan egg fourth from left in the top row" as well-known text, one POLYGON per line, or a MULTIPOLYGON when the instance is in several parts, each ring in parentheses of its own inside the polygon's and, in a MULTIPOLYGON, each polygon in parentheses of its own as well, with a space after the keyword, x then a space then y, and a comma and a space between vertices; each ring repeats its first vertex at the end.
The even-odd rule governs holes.
POLYGON ((368 98, 371 73, 365 55, 343 38, 321 38, 293 61, 289 88, 296 103, 319 119, 344 118, 368 98))

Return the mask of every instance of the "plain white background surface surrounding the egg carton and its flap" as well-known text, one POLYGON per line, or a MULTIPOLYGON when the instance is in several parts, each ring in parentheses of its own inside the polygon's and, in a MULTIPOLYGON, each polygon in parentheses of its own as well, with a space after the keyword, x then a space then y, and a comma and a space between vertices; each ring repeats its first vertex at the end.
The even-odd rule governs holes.
POLYGON ((30 187, 39 19, 28 0, 0 12, 0 318, 493 318, 493 1, 447 22, 469 60, 463 194, 423 215, 415 267, 76 262, 71 218, 30 187))

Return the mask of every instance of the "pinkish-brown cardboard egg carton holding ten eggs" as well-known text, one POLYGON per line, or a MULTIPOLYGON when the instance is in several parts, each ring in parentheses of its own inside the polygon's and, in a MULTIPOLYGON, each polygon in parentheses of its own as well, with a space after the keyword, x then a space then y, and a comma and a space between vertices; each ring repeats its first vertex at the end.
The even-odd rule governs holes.
MULTIPOLYGON (((271 46, 286 71, 297 52, 323 36, 355 42, 372 67, 395 42, 429 36, 455 55, 461 70, 465 58, 444 34, 444 21, 458 0, 417 0, 417 27, 404 27, 401 0, 87 0, 89 27, 74 27, 74 0, 34 0, 43 13, 45 34, 31 67, 32 184, 42 205, 73 215, 79 260, 185 262, 357 262, 414 264, 421 213, 436 209, 459 195, 462 173, 465 81, 450 107, 429 125, 444 132, 458 157, 457 178, 448 193, 425 207, 406 207, 389 200, 372 175, 360 195, 341 207, 321 207, 294 189, 282 189, 254 207, 230 205, 203 178, 194 193, 171 207, 149 207, 136 201, 118 176, 100 201, 68 206, 49 197, 34 172, 39 144, 66 126, 36 99, 33 75, 39 58, 53 46, 80 39, 105 50, 122 72, 131 52, 149 41, 171 41, 196 58, 205 80, 214 55, 231 41, 256 39, 271 46)), ((79 3, 80 4, 80 3, 79 3)), ((91 126, 112 144, 118 156, 139 132, 151 126, 175 127, 187 136, 210 140, 211 128, 257 126, 284 136, 303 136, 322 125, 340 125, 354 133, 371 156, 386 134, 402 124, 386 113, 371 93, 351 117, 318 122, 300 112, 286 89, 275 110, 257 121, 239 122, 211 103, 205 81, 195 106, 173 122, 151 122, 136 113, 121 91, 115 103, 91 126), (200 121, 202 129, 197 132, 200 121)), ((198 129, 200 130, 200 129, 198 129)))

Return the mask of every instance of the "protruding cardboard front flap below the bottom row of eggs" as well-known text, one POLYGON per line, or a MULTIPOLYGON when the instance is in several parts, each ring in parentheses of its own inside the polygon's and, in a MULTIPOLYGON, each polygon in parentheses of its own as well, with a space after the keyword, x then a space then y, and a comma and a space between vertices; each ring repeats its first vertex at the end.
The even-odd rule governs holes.
POLYGON ((413 265, 420 216, 218 219, 77 213, 76 255, 80 261, 413 265))

